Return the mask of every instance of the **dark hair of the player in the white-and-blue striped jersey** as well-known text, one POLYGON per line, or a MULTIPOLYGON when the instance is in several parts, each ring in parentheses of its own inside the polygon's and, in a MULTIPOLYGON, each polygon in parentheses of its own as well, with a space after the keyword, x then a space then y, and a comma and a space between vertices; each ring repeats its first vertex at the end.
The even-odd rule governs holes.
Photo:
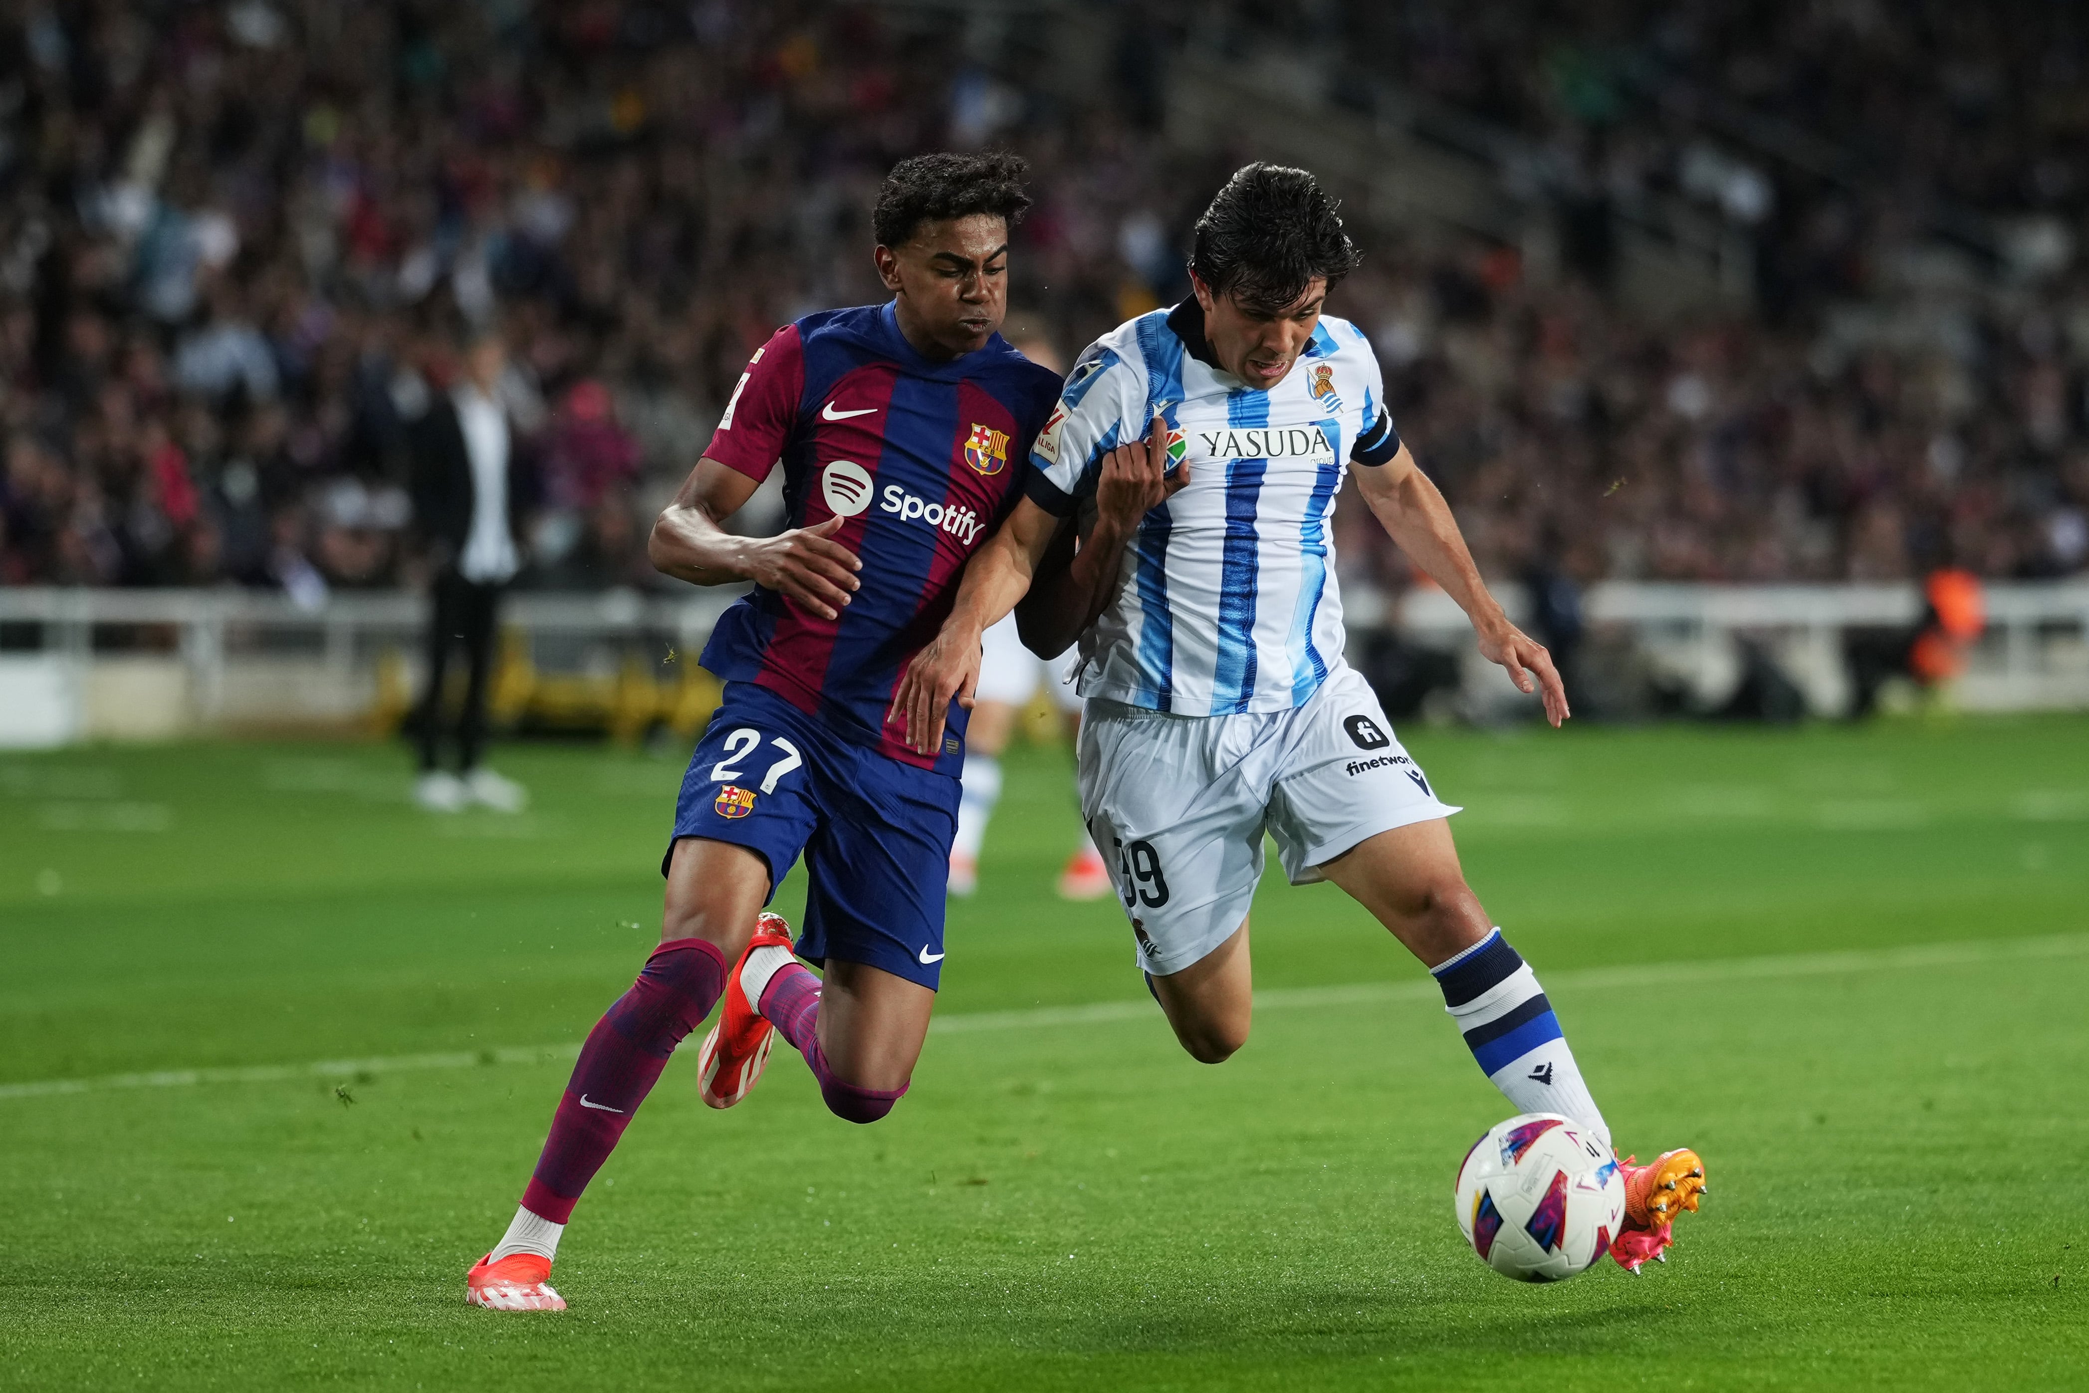
POLYGON ((1304 169, 1247 165, 1197 219, 1189 265, 1212 294, 1274 313, 1327 278, 1333 290, 1362 253, 1341 228, 1341 205, 1304 169))

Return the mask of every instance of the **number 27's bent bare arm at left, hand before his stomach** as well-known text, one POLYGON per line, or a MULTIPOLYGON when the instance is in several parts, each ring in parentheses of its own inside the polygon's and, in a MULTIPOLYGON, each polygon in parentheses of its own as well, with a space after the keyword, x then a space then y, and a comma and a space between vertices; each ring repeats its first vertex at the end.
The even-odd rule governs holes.
POLYGON ((733 537, 721 522, 760 487, 708 455, 696 462, 675 501, 660 510, 646 556, 654 570, 691 585, 758 581, 790 595, 821 618, 836 618, 854 595, 863 562, 834 541, 846 518, 800 526, 777 537, 733 537))

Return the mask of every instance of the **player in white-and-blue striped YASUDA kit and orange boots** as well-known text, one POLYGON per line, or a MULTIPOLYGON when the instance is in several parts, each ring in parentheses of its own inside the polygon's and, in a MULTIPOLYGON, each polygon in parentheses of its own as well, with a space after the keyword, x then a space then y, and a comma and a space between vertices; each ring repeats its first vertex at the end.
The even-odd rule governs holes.
MULTIPOLYGON (((1362 330, 1322 313, 1358 253, 1304 169, 1247 165, 1197 221, 1195 297, 1099 338, 1030 455, 1024 501, 965 572, 940 637, 894 698, 909 741, 940 748, 969 700, 980 635, 1036 579, 1038 654, 1080 639, 1080 798, 1147 975, 1182 1046, 1218 1063, 1247 1040, 1247 911, 1262 840, 1293 883, 1333 881, 1435 973, 1473 1057, 1517 1111, 1565 1113, 1611 1147, 1558 1017, 1464 883, 1448 817, 1343 662, 1331 516, 1349 468, 1370 512, 1473 620, 1481 654, 1546 718, 1567 695, 1508 622, 1450 505, 1402 445, 1362 330), (1049 558, 1070 537, 1065 574, 1049 558), (1057 547, 1055 547, 1057 543, 1057 547)), ((1623 1163, 1613 1255, 1659 1257, 1696 1209, 1688 1149, 1623 1163)))

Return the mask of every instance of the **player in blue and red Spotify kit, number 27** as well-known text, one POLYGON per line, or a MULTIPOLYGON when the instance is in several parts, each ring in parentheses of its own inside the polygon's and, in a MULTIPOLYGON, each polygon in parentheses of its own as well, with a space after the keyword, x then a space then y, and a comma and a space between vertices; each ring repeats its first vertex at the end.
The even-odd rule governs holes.
POLYGON ((1028 205, 1013 155, 896 165, 873 213, 892 301, 777 330, 654 524, 666 574, 756 589, 704 647, 725 704, 681 783, 660 946, 587 1036, 516 1220, 466 1280, 474 1305, 566 1305, 549 1276, 574 1201, 721 994, 698 1053, 712 1107, 746 1096, 777 1032, 840 1117, 875 1122, 907 1092, 942 971, 969 702, 934 754, 886 716, 1059 399, 1059 376, 999 334, 1028 205), (779 464, 792 528, 725 533, 779 464), (762 906, 800 854, 794 944, 762 906))

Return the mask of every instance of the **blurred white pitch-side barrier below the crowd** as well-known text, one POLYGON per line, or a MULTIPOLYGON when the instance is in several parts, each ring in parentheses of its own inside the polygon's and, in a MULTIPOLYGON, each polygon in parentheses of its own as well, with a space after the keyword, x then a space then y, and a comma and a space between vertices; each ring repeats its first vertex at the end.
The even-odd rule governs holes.
MULTIPOLYGON (((1517 585, 1496 593, 1527 612, 1517 585)), ((516 593, 510 641, 549 672, 610 679, 629 662, 694 662, 733 591, 679 595, 516 593)), ((1473 714, 1525 702, 1471 643, 1435 589, 1345 591, 1352 643, 1393 627, 1460 654, 1473 714)), ((1715 706, 1740 677, 1742 641, 1767 654, 1815 714, 1849 702, 1842 635, 1911 624, 1914 585, 1652 585, 1609 581, 1583 595, 1590 652, 1636 662, 1715 706)), ((2089 710, 2089 579, 1987 587, 1989 629, 1949 700, 1966 710, 2089 710)), ((426 599, 338 593, 318 608, 242 589, 0 589, 0 746, 155 739, 209 731, 353 727, 393 681, 420 672, 426 599)))

